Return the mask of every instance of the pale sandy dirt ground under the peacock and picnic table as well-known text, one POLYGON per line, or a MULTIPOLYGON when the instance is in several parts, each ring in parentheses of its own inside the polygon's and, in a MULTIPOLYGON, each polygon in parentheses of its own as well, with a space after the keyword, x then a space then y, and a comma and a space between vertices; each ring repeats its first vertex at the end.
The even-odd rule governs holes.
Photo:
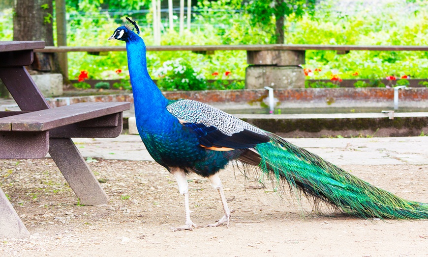
MULTIPOLYGON (((184 224, 184 201, 163 167, 118 160, 89 165, 109 205, 79 205, 52 159, 1 161, 0 186, 31 232, 28 239, 2 239, 1 257, 428 256, 428 220, 367 220, 329 210, 320 215, 310 202, 281 200, 233 167, 220 174, 235 210, 230 228, 173 232, 184 224)), ((426 165, 342 168, 403 198, 428 202, 426 165)), ((222 216, 208 180, 190 176, 189 187, 196 224, 222 216)))

